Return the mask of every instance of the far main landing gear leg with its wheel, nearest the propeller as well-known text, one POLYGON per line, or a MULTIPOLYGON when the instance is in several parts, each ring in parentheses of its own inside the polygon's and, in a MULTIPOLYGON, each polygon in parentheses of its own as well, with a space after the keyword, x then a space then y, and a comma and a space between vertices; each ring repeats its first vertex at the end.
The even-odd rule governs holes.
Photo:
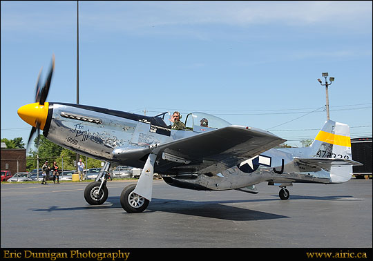
POLYGON ((108 199, 108 188, 106 180, 109 178, 108 169, 111 163, 105 162, 104 166, 99 171, 99 175, 94 182, 90 182, 84 190, 84 199, 90 205, 101 205, 108 199))

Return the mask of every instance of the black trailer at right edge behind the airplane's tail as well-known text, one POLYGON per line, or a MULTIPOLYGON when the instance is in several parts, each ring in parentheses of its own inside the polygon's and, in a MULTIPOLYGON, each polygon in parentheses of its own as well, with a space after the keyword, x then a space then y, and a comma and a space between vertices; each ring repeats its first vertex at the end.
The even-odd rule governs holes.
POLYGON ((353 166, 356 179, 372 178, 372 137, 351 139, 352 160, 361 162, 363 166, 353 166))

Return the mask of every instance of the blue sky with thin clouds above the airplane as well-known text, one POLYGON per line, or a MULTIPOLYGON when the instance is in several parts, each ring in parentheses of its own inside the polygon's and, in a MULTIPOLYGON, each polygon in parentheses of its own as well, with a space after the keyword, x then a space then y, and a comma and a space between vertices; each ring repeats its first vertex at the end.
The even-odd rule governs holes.
MULTIPOLYGON (((52 54, 47 101, 76 102, 76 41, 76 1, 1 1, 1 138, 27 142, 17 109, 52 54)), ((203 111, 301 146, 326 119, 322 72, 331 119, 371 137, 372 1, 79 1, 80 104, 203 111)))

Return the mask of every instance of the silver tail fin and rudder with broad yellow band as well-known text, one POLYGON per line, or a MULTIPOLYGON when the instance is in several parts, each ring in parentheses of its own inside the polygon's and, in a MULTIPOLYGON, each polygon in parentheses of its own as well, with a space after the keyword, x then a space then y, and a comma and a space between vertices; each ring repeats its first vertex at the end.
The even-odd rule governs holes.
MULTIPOLYGON (((350 126, 327 120, 310 148, 313 157, 352 160, 350 126)), ((330 182, 347 182, 352 176, 351 166, 331 166, 330 182)))

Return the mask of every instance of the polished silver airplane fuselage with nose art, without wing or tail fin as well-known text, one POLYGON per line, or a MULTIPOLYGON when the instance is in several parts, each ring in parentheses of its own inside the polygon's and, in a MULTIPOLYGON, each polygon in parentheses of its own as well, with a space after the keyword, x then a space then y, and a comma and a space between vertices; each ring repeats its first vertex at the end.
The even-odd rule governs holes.
MULTIPOLYGON (((165 114, 163 117, 169 115, 165 114)), ((199 135, 201 128, 191 122, 193 117, 186 119, 188 120, 186 126, 191 126, 188 130, 176 131, 166 124, 168 118, 136 115, 79 104, 50 103, 44 136, 60 146, 88 157, 143 168, 146 158, 120 159, 115 157, 113 151, 118 148, 147 148, 154 144, 199 135)), ((203 131, 209 129, 204 128, 203 131)), ((157 170, 156 164, 154 171, 162 175, 168 184, 198 190, 240 189, 260 182, 283 186, 289 186, 292 182, 330 183, 328 170, 300 168, 294 162, 294 157, 314 155, 312 153, 314 152, 306 151, 304 148, 272 148, 213 176, 200 173, 169 175, 157 170)))

